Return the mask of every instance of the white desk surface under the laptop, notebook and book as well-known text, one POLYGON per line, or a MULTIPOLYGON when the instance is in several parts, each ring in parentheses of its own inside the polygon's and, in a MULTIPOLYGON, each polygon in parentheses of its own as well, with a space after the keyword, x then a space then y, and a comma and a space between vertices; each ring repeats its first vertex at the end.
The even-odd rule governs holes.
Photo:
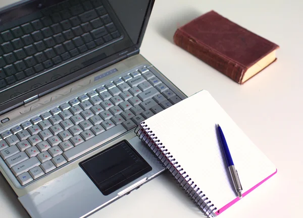
MULTIPOLYGON (((9 2, 0 0, 0 5, 9 2)), ((302 8, 302 1, 282 0, 155 3, 141 54, 186 95, 208 90, 278 169, 269 181, 222 213, 222 218, 301 217, 302 8), (240 86, 173 44, 177 27, 210 10, 280 45, 278 60, 240 86)), ((3 177, 0 217, 28 217, 3 177)), ((90 217, 194 218, 201 214, 168 175, 161 175, 90 217)))

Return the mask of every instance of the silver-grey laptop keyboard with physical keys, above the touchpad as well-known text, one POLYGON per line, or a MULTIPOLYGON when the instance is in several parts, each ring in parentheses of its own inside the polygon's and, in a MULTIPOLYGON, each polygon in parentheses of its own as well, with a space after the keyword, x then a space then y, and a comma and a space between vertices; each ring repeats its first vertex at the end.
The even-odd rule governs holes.
POLYGON ((139 67, 0 134, 0 156, 21 185, 136 127, 181 99, 139 67))

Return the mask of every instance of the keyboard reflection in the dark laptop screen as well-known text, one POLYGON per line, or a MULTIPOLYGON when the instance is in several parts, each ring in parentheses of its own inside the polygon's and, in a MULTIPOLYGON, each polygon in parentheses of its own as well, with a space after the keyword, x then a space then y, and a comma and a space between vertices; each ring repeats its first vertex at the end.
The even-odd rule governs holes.
POLYGON ((0 89, 121 36, 100 1, 65 1, 0 33, 0 89))

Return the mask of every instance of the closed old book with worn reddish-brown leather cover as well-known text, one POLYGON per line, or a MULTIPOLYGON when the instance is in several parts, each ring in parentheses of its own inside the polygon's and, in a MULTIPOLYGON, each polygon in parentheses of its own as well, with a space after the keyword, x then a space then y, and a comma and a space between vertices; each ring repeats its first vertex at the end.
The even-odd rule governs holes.
POLYGON ((274 62, 279 48, 215 11, 178 28, 174 42, 239 84, 274 62))

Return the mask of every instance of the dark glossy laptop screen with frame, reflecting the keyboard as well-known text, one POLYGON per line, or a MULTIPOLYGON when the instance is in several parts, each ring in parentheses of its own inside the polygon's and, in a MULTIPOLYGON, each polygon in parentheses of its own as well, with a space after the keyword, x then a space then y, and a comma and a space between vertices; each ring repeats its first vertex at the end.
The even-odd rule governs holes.
POLYGON ((153 2, 0 3, 0 114, 138 51, 153 2))

